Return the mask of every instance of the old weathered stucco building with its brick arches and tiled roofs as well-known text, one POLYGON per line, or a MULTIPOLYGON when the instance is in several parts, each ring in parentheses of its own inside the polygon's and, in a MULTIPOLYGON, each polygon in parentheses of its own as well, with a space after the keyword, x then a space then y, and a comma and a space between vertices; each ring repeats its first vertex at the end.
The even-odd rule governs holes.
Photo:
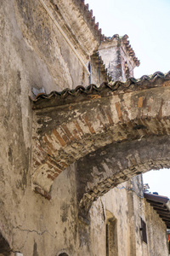
POLYGON ((139 174, 170 166, 170 73, 131 78, 83 0, 3 1, 0 24, 0 253, 167 255, 139 174))

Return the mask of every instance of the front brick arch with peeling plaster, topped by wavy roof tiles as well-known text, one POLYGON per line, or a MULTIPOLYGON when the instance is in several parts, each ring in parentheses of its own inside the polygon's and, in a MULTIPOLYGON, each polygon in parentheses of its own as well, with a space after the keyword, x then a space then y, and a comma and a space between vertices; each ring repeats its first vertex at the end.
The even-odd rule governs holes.
MULTIPOLYGON (((128 79, 125 84, 101 84, 99 88, 90 85, 87 89, 79 86, 76 90, 37 96, 32 102, 32 184, 35 191, 49 199, 51 186, 59 173, 88 154, 95 154, 99 148, 168 136, 169 98, 169 73, 128 79)), ((130 176, 134 173, 130 172, 130 176)), ((126 177, 123 170, 120 175, 126 177)), ((98 185, 105 183, 107 186, 109 178, 111 174, 100 175, 98 185)), ((84 180, 88 183, 88 175, 84 180)), ((91 203, 87 201, 91 192, 86 191, 88 187, 84 188, 80 199, 82 208, 91 203)), ((95 200, 95 196, 91 197, 95 200)))

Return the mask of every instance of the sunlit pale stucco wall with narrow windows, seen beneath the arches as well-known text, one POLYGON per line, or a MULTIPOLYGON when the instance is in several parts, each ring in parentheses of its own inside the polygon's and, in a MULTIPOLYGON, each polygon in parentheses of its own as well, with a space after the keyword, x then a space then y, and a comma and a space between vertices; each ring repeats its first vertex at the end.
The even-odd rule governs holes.
POLYGON ((153 207, 150 207, 150 203, 145 201, 141 176, 118 185, 93 203, 90 209, 92 255, 107 255, 107 211, 110 212, 110 217, 116 218, 116 255, 168 255, 166 225, 153 207), (147 244, 142 240, 141 218, 146 223, 147 244))

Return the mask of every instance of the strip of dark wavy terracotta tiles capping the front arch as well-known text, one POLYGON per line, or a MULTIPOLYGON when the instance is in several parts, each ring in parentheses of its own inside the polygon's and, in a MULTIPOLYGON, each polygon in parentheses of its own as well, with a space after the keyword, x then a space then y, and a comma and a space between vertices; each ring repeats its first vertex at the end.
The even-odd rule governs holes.
POLYGON ((72 102, 85 102, 91 100, 92 95, 109 96, 113 92, 114 94, 120 94, 125 91, 147 89, 157 86, 155 82, 158 79, 161 79, 161 81, 170 80, 170 72, 166 74, 156 72, 150 76, 144 75, 140 79, 131 78, 127 79, 125 83, 116 81, 113 84, 100 84, 99 87, 95 84, 90 84, 88 87, 79 85, 74 90, 52 91, 50 94, 40 93, 35 98, 31 98, 32 108, 41 109, 70 104, 72 102))

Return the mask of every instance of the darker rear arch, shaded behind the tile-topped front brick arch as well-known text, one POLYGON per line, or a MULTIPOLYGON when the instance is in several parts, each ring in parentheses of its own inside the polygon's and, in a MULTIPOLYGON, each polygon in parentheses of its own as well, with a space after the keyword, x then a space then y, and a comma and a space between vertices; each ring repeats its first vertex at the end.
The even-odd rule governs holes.
POLYGON ((129 177, 170 168, 170 137, 151 136, 111 143, 77 161, 77 195, 85 218, 93 201, 129 177), (86 178, 88 176, 88 178, 86 178))

